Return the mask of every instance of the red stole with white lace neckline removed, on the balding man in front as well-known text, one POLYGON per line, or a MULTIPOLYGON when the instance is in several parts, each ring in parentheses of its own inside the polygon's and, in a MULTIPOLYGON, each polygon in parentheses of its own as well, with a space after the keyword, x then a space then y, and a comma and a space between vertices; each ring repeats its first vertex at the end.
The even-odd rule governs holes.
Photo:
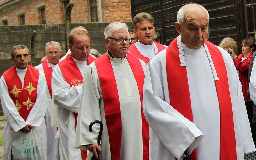
MULTIPOLYGON (((226 66, 218 48, 205 41, 211 54, 219 80, 215 81, 220 108, 220 160, 237 159, 233 111, 228 86, 226 66), (225 97, 225 98, 223 98, 225 97)), ((166 70, 170 105, 193 122, 186 67, 180 66, 177 38, 167 47, 166 70), (173 78, 175 77, 175 78, 173 78), (181 101, 181 99, 184 99, 181 101)), ((211 144, 209 144, 211 145, 211 144)), ((195 149, 196 150, 196 149, 195 149)), ((191 153, 196 160, 196 151, 191 153)))

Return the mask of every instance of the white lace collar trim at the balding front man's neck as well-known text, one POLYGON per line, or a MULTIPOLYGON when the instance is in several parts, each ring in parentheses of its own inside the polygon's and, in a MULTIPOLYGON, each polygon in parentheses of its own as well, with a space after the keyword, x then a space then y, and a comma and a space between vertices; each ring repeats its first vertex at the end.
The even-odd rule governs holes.
MULTIPOLYGON (((184 55, 184 49, 186 52, 190 51, 190 53, 192 52, 191 50, 189 50, 188 48, 183 48, 183 45, 182 42, 181 42, 181 35, 179 35, 177 37, 177 46, 178 46, 178 50, 179 50, 179 57, 180 57, 180 63, 181 63, 181 67, 185 67, 186 66, 186 60, 185 60, 185 55, 184 55)), ((208 50, 208 47, 206 46, 206 44, 204 44, 201 48, 199 49, 195 49, 195 52, 201 52, 202 51, 202 48, 205 50, 205 53, 207 55, 207 58, 208 58, 208 61, 210 63, 210 66, 211 66, 211 69, 212 69, 212 74, 213 74, 213 78, 214 78, 214 81, 217 81, 219 80, 218 78, 218 75, 217 75, 217 72, 216 72, 216 69, 215 69, 215 66, 214 66, 214 63, 212 61, 212 57, 211 57, 211 54, 208 50)), ((186 53, 185 52, 185 53, 186 53)), ((193 51, 194 52, 194 51, 193 51)))

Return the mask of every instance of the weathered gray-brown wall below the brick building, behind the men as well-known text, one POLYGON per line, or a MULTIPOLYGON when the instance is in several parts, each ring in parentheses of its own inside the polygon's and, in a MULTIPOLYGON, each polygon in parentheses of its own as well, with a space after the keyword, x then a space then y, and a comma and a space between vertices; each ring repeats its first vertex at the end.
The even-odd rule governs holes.
MULTIPOLYGON (((131 22, 125 22, 129 32, 132 31, 131 22)), ((107 47, 104 42, 104 29, 109 23, 76 23, 76 26, 84 26, 91 36, 91 48, 97 49, 99 53, 105 53, 107 47)), ((23 44, 30 50, 31 63, 36 66, 40 64, 41 57, 45 56, 45 44, 49 41, 57 41, 61 45, 62 56, 68 51, 66 44, 65 25, 20 25, 0 26, 0 76, 14 64, 10 61, 10 50, 13 46, 23 44)), ((0 115, 2 113, 0 108, 0 115)))

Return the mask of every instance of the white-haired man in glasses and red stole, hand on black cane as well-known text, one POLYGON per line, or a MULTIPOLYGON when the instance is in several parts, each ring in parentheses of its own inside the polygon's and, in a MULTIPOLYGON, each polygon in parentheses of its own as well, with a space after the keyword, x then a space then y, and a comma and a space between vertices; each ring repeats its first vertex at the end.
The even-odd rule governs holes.
POLYGON ((142 111, 142 91, 146 63, 129 50, 125 23, 110 23, 104 31, 108 51, 85 71, 79 105, 75 146, 88 149, 87 160, 100 153, 103 160, 148 160, 148 123, 142 111), (97 144, 103 124, 101 145, 97 144))

